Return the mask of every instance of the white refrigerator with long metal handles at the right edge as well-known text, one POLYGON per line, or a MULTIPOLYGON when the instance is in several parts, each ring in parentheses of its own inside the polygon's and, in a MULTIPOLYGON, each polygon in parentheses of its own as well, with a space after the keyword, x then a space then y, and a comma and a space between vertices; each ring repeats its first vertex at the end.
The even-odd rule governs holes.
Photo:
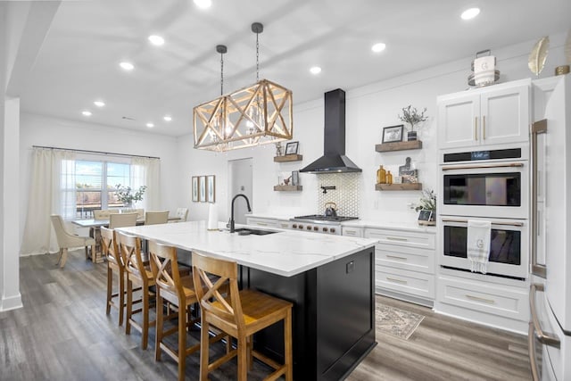
POLYGON ((570 75, 534 81, 534 120, 530 360, 535 379, 571 380, 570 75))

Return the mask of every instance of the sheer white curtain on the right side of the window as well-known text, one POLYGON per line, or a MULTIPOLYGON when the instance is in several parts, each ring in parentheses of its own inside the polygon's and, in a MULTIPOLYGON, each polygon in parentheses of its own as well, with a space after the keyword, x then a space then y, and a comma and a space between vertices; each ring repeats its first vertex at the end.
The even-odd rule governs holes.
POLYGON ((146 186, 143 201, 137 207, 145 211, 161 209, 161 160, 134 157, 131 160, 131 187, 135 190, 139 186, 146 186))

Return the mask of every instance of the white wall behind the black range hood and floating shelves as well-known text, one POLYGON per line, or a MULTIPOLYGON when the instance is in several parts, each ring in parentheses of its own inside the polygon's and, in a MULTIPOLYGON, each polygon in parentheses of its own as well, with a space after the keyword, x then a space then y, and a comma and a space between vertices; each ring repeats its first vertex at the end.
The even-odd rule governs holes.
MULTIPOLYGON (((554 68, 565 63, 563 44, 565 34, 551 36, 550 54, 541 78, 553 75, 554 68)), ((535 41, 515 46, 493 48, 497 58, 496 68, 501 71, 501 82, 529 78, 527 56, 535 41)), ((475 46, 474 51, 480 50, 475 46)), ((390 54, 386 52, 386 54, 390 54)), ((470 63, 474 57, 450 62, 434 68, 420 70, 401 77, 388 79, 347 91, 346 94, 346 154, 363 170, 360 183, 360 218, 414 221, 417 212, 407 207, 418 203, 419 191, 375 191, 376 171, 379 164, 398 173, 407 156, 419 172, 419 181, 425 189, 437 188, 436 157, 436 97, 463 91, 468 88, 470 63), (375 152, 375 144, 381 142, 383 127, 401 124, 397 115, 402 107, 412 104, 418 109, 426 107, 429 120, 420 128, 418 139, 423 149, 393 153, 375 152)), ((382 66, 379 66, 382 70, 382 66)), ((287 84, 283 84, 287 85, 287 84)), ((329 89, 332 90, 333 88, 329 89)), ((214 173, 217 175, 217 200, 219 219, 228 219, 228 160, 253 158, 253 210, 277 214, 308 214, 322 209, 318 205, 318 176, 301 174, 302 192, 274 192, 280 172, 298 170, 317 159, 323 153, 323 100, 294 104, 294 140, 300 141, 302 162, 275 163, 274 145, 237 150, 230 153, 211 153, 194 150, 192 136, 178 142, 178 160, 182 162, 180 176, 184 178, 181 189, 185 203, 190 203, 189 219, 206 219, 208 205, 190 202, 190 178, 214 173)))

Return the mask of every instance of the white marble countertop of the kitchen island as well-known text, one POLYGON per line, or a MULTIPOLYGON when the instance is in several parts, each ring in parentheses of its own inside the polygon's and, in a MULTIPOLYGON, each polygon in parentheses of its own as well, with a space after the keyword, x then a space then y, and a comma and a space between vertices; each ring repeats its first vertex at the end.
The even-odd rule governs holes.
MULTIPOLYGON (((219 223, 224 227, 224 223, 219 223)), ((244 226, 241 226, 244 227, 244 226)), ((246 226, 247 227, 247 226, 246 226)), ((236 226, 238 228, 238 226, 236 226)), ((259 228, 259 227, 252 227, 259 228)), ((275 230, 266 236, 238 236, 228 230, 208 230, 206 221, 147 225, 118 230, 170 244, 186 251, 210 254, 238 264, 292 277, 375 245, 374 239, 331 236, 295 230, 275 230)))

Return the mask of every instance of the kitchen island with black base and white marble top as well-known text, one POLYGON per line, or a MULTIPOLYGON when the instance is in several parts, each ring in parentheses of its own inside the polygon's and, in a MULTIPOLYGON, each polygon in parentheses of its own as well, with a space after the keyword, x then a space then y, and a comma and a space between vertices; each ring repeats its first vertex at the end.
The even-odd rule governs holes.
MULTIPOLYGON (((294 303, 294 379, 346 377, 375 346, 375 240, 279 230, 264 236, 209 231, 204 221, 120 228, 171 244, 179 259, 197 251, 236 261, 240 283, 294 303)), ((283 360, 283 327, 254 336, 283 360)))

